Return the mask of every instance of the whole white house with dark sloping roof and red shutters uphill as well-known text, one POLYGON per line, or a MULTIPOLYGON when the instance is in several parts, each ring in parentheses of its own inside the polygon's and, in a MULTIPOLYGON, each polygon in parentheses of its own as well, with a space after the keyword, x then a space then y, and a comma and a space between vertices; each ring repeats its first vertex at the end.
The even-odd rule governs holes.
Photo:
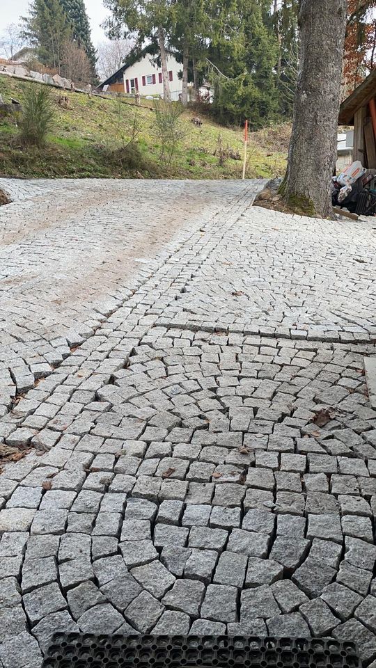
MULTIPOLYGON (((179 100, 182 92, 182 65, 172 55, 168 55, 167 69, 171 99, 179 100)), ((139 93, 143 96, 163 97, 162 68, 158 67, 155 58, 150 54, 142 55, 137 61, 132 58, 103 81, 98 89, 104 93, 139 93)))

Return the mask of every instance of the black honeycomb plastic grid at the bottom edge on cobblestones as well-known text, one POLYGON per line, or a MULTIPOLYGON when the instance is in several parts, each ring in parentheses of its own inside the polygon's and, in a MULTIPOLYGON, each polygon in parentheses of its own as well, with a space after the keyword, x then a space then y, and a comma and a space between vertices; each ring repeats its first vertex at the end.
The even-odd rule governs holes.
POLYGON ((42 668, 360 668, 357 646, 331 639, 56 633, 42 668))

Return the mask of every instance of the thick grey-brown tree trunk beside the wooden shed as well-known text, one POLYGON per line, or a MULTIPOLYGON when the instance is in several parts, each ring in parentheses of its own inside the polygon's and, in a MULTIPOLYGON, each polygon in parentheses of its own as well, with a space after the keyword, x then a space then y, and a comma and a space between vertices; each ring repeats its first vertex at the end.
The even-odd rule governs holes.
POLYGON ((301 58, 288 171, 288 205, 327 218, 336 161, 347 0, 301 0, 301 58))

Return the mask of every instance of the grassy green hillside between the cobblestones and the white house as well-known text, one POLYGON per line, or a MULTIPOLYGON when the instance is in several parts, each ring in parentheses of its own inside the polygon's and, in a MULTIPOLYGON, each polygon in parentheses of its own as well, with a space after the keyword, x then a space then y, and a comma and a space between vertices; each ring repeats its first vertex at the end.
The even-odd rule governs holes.
MULTIPOLYGON (((22 101, 24 81, 0 76, 0 94, 22 101)), ((33 84, 38 86, 40 84, 33 84)), ((155 177, 191 179, 239 178, 242 161, 228 157, 219 164, 219 146, 242 155, 242 131, 228 129, 203 117, 180 118, 180 140, 170 165, 161 158, 151 102, 136 107, 125 98, 103 99, 68 93, 68 109, 58 104, 62 91, 52 88, 56 118, 45 148, 25 148, 15 122, 0 118, 0 175, 15 177, 155 177), (127 145, 136 125, 136 141, 127 145), (221 136, 219 140, 219 136, 221 136)), ((273 177, 285 170, 285 135, 288 129, 251 134, 246 176, 273 177), (274 150, 274 146, 276 150, 274 150)))

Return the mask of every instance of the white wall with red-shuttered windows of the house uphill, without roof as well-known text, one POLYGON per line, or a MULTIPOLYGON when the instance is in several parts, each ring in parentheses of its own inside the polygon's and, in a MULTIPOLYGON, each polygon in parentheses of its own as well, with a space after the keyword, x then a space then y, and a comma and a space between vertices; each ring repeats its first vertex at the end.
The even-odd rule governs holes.
MULTIPOLYGON (((169 84, 172 100, 178 100, 182 92, 182 79, 178 73, 182 71, 182 65, 175 61, 173 56, 167 58, 167 69, 169 70, 169 84)), ((141 61, 134 63, 124 72, 125 93, 134 93, 138 90, 140 95, 160 95, 163 97, 162 69, 152 62, 150 56, 144 56, 141 61), (151 79, 151 83, 148 83, 151 79), (132 81, 133 80, 133 81, 132 81), (134 83, 132 88, 131 84, 134 83)))

